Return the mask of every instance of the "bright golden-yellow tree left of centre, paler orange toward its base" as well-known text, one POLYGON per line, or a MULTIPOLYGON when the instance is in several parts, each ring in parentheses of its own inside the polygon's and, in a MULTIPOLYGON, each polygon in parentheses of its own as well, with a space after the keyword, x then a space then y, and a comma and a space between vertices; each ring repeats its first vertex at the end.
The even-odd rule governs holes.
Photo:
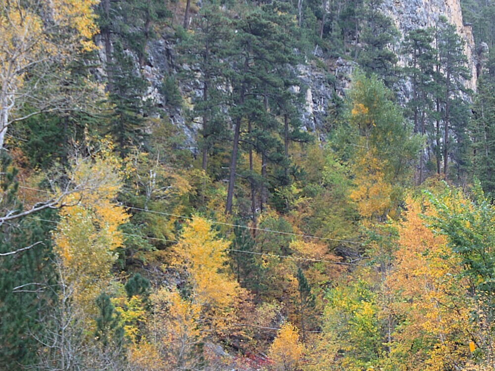
POLYGON ((228 272, 229 244, 212 231, 210 222, 194 217, 174 246, 172 267, 186 282, 181 293, 162 288, 151 295, 154 317, 148 322, 165 369, 200 367, 205 338, 231 334, 242 290, 228 272))

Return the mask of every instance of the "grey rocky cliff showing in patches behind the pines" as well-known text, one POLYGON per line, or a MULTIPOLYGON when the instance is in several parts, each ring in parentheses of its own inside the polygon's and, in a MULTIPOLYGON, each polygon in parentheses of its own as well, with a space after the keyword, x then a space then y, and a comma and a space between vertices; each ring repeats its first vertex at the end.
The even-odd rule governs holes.
MULTIPOLYGON (((457 32, 465 41, 465 53, 468 58, 469 69, 472 78, 466 81, 470 89, 476 88, 476 47, 474 44, 471 26, 465 24, 462 18, 460 0, 385 0, 381 6, 384 13, 393 18, 398 30, 403 36, 414 28, 433 26, 440 16, 446 18, 456 26, 457 32)), ((177 62, 174 40, 166 32, 158 40, 148 44, 148 60, 140 69, 140 73, 148 80, 148 98, 151 98, 160 116, 167 116, 172 124, 180 128, 186 137, 185 146, 196 147, 196 135, 198 124, 189 124, 181 110, 167 107, 165 98, 160 93, 160 86, 164 77, 175 75, 181 70, 192 68, 191 66, 177 62), (168 36, 167 36, 168 35, 168 36)), ((106 56, 104 47, 100 44, 100 59, 104 64, 106 56)), ((321 50, 314 51, 318 60, 313 60, 307 65, 299 66, 300 86, 294 87, 297 91, 303 91, 306 95, 306 103, 302 113, 303 125, 309 131, 322 129, 325 125, 327 110, 332 102, 333 95, 344 96, 345 89, 349 86, 350 75, 355 65, 350 60, 327 57, 321 50)), ((405 57, 399 56, 399 64, 405 65, 405 57)), ((136 65, 139 70, 138 65, 136 65)), ((100 70, 100 77, 104 75, 104 68, 100 70)), ((191 96, 200 96, 201 91, 194 88, 198 84, 182 83, 180 90, 190 102, 191 96)), ((398 101, 405 102, 409 98, 410 86, 407 81, 397 88, 398 101)))

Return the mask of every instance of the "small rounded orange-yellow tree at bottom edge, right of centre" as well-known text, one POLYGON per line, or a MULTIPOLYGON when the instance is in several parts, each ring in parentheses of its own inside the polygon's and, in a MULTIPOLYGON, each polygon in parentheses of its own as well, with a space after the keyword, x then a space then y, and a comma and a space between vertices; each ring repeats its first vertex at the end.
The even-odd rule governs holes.
POLYGON ((299 341, 297 328, 284 324, 270 346, 269 356, 276 371, 298 370, 304 354, 304 346, 299 341))

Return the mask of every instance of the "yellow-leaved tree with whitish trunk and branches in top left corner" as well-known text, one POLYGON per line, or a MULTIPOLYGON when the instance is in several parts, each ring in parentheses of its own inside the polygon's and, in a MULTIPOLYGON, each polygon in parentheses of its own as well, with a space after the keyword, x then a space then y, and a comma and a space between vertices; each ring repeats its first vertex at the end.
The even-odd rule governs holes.
MULTIPOLYGON (((46 95, 22 91, 27 76, 38 76, 37 84, 47 84, 50 77, 63 75, 63 67, 82 51, 96 48, 93 37, 98 32, 93 9, 99 0, 0 0, 0 148, 3 148, 11 117, 24 98, 42 110, 60 109, 58 93, 46 95), (32 71, 36 70, 33 74, 32 71), (57 72, 55 72, 57 71, 57 72), (43 76, 43 79, 41 78, 43 76), (43 81, 43 83, 41 83, 43 81), (44 102, 47 101, 47 102, 44 102)), ((36 79, 36 78, 35 78, 36 79)), ((83 94, 80 99, 87 97, 83 94)), ((71 99, 79 99, 71 96, 71 99)), ((66 107, 64 107, 66 108, 66 107)))

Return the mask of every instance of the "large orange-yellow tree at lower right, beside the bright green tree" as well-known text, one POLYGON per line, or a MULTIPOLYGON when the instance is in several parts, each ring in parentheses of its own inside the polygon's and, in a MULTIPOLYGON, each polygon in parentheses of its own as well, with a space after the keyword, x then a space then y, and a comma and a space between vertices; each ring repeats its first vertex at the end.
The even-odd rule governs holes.
POLYGON ((391 366, 407 365, 407 370, 418 371, 471 370, 474 303, 463 278, 462 259, 444 235, 425 226, 421 215, 434 215, 428 205, 408 200, 407 210, 398 228, 396 268, 386 281, 396 296, 393 312, 401 319, 394 334, 391 366))

